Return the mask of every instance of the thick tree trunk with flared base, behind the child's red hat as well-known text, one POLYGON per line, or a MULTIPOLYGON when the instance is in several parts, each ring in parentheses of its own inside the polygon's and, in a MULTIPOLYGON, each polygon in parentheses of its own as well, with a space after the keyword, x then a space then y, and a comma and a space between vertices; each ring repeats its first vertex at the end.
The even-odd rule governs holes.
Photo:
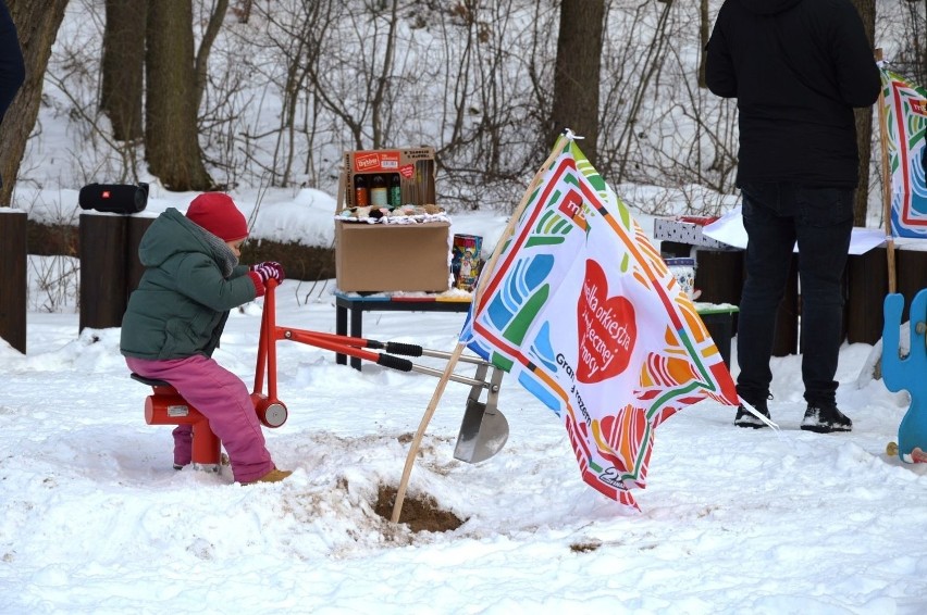
POLYGON ((168 190, 215 187, 199 147, 190 0, 148 4, 145 150, 153 175, 168 190))

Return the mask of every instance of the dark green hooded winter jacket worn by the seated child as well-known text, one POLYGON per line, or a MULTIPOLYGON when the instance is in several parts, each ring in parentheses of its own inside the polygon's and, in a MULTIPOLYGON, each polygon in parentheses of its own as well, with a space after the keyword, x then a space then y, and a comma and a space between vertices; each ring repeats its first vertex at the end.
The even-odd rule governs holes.
POLYGON ((211 356, 228 311, 257 296, 248 267, 224 277, 221 239, 174 208, 158 216, 138 247, 145 273, 122 319, 120 350, 149 361, 211 356))

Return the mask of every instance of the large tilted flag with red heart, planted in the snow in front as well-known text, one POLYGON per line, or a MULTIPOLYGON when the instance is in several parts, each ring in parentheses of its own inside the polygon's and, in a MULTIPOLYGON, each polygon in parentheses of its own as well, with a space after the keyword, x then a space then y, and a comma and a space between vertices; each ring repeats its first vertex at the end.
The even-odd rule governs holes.
POLYGON ((572 139, 555 149, 460 341, 561 417, 583 480, 638 507, 629 489, 645 485, 656 426, 706 398, 738 397, 628 208, 572 139))

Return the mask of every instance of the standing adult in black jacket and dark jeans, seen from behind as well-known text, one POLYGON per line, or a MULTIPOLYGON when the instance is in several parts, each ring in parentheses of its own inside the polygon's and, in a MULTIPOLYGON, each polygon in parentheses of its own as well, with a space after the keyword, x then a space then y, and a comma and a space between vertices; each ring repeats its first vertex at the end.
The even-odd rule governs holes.
MULTIPOLYGON (((776 312, 792 249, 802 290, 802 429, 849 431, 837 409, 841 279, 853 227, 858 151, 853 108, 879 73, 850 0, 726 0, 707 47, 708 88, 738 99, 737 185, 747 234, 737 388, 769 416, 776 312)), ((743 406, 734 423, 763 427, 743 406)))

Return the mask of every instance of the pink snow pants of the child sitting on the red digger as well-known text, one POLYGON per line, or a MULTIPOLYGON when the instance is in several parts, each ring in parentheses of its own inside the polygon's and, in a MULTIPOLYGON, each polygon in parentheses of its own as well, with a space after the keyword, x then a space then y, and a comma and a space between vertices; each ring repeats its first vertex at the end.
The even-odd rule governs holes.
MULTIPOLYGON (((125 363, 139 376, 170 382, 206 416, 228 453, 236 481, 251 482, 274 468, 251 396, 238 376, 201 354, 165 361, 126 356, 125 363)), ((190 463, 191 431, 190 425, 174 429, 175 464, 190 463)))

